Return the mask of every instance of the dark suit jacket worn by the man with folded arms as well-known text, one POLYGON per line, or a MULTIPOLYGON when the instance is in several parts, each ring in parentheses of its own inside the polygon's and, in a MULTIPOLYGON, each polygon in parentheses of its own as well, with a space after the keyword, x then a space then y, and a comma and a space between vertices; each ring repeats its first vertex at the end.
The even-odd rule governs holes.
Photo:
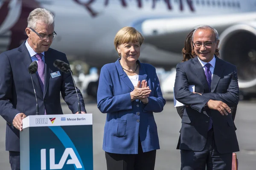
POLYGON ((239 151, 236 132, 231 114, 222 116, 204 105, 209 99, 220 100, 230 107, 239 102, 239 86, 236 66, 216 57, 215 69, 212 76, 211 93, 208 89, 204 68, 198 57, 179 63, 176 67, 175 98, 189 105, 185 107, 180 132, 180 149, 201 151, 207 139, 209 116, 212 116, 215 144, 220 153, 239 151), (189 85, 195 85, 193 94, 189 85))

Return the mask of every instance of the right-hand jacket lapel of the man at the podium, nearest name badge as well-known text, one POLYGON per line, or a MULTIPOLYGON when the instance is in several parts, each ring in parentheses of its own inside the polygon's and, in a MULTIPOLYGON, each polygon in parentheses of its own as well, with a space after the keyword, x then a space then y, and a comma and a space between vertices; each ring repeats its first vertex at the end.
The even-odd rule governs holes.
POLYGON ((51 62, 49 50, 44 52, 44 60, 45 60, 45 64, 44 64, 44 97, 45 97, 45 94, 46 94, 48 86, 49 86, 49 79, 50 79, 50 73, 51 73, 49 64, 53 63, 53 62, 51 62))

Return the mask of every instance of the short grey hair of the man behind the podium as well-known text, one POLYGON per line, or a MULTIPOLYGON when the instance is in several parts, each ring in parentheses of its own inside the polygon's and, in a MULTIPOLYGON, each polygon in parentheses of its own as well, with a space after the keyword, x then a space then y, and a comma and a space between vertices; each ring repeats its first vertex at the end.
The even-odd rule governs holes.
POLYGON ((54 27, 53 14, 44 8, 36 8, 30 12, 28 17, 28 28, 36 29, 36 24, 43 22, 47 25, 52 25, 54 27))

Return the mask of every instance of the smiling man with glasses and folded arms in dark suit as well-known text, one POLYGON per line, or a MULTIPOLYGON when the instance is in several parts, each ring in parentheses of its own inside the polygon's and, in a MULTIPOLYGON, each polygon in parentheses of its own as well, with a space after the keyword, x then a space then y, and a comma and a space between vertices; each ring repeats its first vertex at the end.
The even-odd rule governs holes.
POLYGON ((239 151, 230 114, 239 102, 236 66, 215 57, 218 43, 214 28, 196 28, 192 44, 197 57, 176 67, 175 98, 189 106, 178 143, 181 170, 231 170, 232 153, 239 151))

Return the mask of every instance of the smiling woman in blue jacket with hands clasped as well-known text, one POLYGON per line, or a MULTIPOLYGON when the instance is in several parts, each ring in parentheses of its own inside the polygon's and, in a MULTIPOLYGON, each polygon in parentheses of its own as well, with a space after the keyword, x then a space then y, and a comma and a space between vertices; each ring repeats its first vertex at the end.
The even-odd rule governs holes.
POLYGON ((108 170, 154 170, 160 149, 153 112, 166 104, 156 69, 141 63, 144 37, 132 27, 120 29, 114 45, 119 59, 102 67, 98 108, 107 113, 103 150, 108 170))

